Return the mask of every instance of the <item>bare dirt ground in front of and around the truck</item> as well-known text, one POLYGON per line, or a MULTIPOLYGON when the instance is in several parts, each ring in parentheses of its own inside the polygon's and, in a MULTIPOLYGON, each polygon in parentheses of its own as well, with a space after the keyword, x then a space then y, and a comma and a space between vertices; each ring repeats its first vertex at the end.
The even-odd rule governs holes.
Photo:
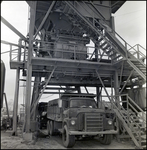
MULTIPOLYGON (((17 136, 11 134, 12 130, 1 131, 1 149, 66 149, 59 135, 49 137, 40 133, 34 143, 24 141, 19 129, 17 136)), ((135 149, 135 145, 128 139, 118 142, 115 138, 111 145, 102 145, 97 138, 94 138, 76 141, 72 149, 135 149)))

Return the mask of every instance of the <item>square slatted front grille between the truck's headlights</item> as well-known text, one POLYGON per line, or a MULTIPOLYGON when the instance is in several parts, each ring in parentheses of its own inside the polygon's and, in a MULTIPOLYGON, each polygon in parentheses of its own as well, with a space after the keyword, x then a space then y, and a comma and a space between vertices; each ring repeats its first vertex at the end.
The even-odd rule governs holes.
POLYGON ((100 113, 85 113, 85 131, 102 131, 103 116, 100 113))

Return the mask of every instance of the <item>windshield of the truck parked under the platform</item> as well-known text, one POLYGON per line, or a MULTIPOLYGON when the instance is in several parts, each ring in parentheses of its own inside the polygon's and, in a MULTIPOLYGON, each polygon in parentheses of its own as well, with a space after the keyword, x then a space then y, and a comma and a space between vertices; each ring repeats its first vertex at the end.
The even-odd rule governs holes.
POLYGON ((88 107, 88 108, 97 108, 95 100, 91 99, 74 99, 70 101, 70 107, 79 108, 79 107, 88 107))

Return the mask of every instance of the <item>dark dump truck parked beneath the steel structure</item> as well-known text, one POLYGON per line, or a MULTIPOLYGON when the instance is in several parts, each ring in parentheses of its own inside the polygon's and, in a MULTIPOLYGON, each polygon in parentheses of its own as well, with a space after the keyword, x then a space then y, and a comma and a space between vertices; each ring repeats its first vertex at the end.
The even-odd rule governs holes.
POLYGON ((47 106, 47 132, 62 134, 65 147, 73 147, 79 138, 98 136, 103 144, 110 144, 118 133, 113 110, 99 108, 94 94, 70 93, 50 100, 47 106))

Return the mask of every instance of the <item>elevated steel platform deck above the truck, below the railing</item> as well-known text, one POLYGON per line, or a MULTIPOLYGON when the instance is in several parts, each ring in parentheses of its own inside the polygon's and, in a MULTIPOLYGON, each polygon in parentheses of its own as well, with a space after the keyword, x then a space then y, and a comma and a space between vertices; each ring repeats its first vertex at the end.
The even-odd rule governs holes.
MULTIPOLYGON (((27 62, 10 62, 11 69, 23 70, 23 76, 26 76, 27 62)), ((99 71, 100 76, 106 87, 111 87, 111 77, 114 72, 118 71, 118 76, 122 76, 123 81, 126 81, 130 75, 132 68, 128 66, 126 60, 118 61, 118 63, 106 63, 106 62, 93 62, 87 60, 70 60, 70 59, 57 59, 57 58, 32 58, 32 76, 33 77, 46 77, 51 72, 53 67, 56 67, 54 76, 50 80, 52 85, 89 85, 100 86, 101 82, 97 78, 96 70, 99 71), (123 68, 122 68, 123 63, 123 68), (122 71, 123 69, 123 71, 122 71)), ((134 71, 131 78, 139 77, 134 71)), ((134 82, 134 85, 138 85, 138 82, 144 82, 142 80, 134 82)), ((131 86, 132 83, 127 83, 126 86, 131 86)))

